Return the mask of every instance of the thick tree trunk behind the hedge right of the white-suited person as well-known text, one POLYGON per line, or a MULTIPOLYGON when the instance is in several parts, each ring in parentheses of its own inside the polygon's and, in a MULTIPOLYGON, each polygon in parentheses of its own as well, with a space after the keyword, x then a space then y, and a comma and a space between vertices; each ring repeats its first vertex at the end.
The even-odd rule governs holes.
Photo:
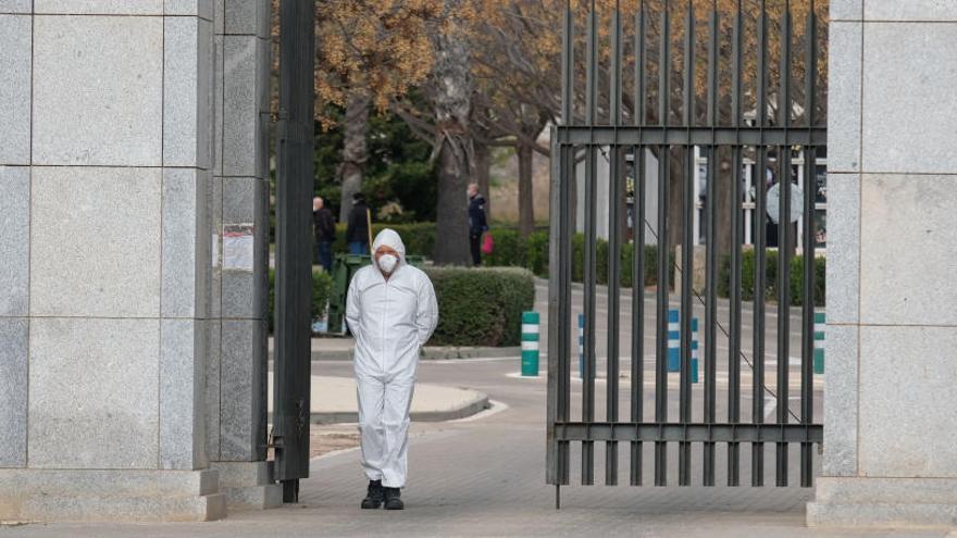
MULTIPOLYGON (((448 0, 447 5, 456 3, 448 0)), ((465 265, 469 255, 467 192, 474 164, 469 132, 472 77, 469 49, 457 35, 457 24, 435 37, 432 97, 438 137, 438 208, 436 211, 435 263, 465 265)))

